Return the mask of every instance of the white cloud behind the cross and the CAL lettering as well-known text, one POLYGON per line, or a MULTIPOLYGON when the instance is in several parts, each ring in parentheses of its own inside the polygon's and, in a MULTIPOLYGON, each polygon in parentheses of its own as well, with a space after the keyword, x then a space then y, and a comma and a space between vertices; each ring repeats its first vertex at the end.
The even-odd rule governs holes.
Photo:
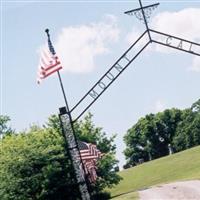
MULTIPOLYGON (((177 36, 183 39, 187 39, 193 42, 200 42, 200 8, 187 8, 177 12, 162 12, 153 17, 152 22, 149 27, 153 30, 157 30, 166 34, 177 36)), ((138 29, 139 30, 139 29, 138 29)), ((127 41, 133 41, 142 32, 133 30, 127 35, 127 41)), ((155 40, 166 42, 166 37, 159 36, 157 34, 152 34, 152 38, 155 40)), ((180 43, 178 40, 173 40, 174 44, 180 43)), ((190 44, 184 43, 183 48, 190 48, 190 44)), ((163 47, 158 44, 151 44, 148 48, 150 51, 158 51, 162 53, 178 53, 178 50, 173 50, 172 48, 163 47)), ((195 48, 195 52, 200 53, 200 48, 195 48)), ((188 67, 189 70, 200 72, 200 58, 193 57, 191 66, 188 67)))

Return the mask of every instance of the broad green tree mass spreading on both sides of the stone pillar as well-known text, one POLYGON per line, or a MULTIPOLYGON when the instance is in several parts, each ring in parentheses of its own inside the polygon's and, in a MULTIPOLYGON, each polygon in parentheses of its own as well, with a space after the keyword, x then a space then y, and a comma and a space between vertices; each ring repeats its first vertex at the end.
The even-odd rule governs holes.
MULTIPOLYGON (((105 153, 98 163, 99 178, 91 187, 98 199, 105 187, 111 187, 120 180, 114 172, 117 163, 114 158, 115 146, 112 144, 114 137, 106 138, 102 129, 92 123, 91 114, 75 127, 79 139, 97 144, 105 153)), ((0 145, 0 199, 79 199, 57 116, 51 116, 43 128, 4 137, 0 145)))

